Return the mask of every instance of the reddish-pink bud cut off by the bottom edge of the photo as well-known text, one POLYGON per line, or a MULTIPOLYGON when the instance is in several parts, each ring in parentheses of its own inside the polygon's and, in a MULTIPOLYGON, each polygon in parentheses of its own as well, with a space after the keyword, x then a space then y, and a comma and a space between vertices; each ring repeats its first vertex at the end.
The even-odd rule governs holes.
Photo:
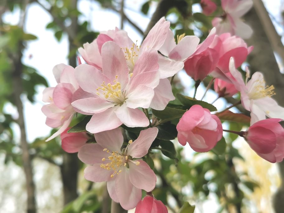
POLYGON ((143 200, 139 201, 135 208, 135 213, 168 213, 167 207, 162 201, 146 195, 143 200))

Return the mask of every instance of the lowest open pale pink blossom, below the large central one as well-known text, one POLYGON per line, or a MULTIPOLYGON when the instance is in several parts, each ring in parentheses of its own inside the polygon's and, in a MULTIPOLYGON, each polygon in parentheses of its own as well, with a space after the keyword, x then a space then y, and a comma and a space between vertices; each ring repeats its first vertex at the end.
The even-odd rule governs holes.
POLYGON ((81 161, 92 165, 85 169, 85 178, 107 181, 111 199, 126 210, 133 209, 141 200, 141 189, 150 192, 156 185, 154 171, 137 159, 148 153, 157 134, 156 127, 142 130, 122 151, 123 136, 118 128, 95 134, 97 143, 83 145, 78 152, 81 161))

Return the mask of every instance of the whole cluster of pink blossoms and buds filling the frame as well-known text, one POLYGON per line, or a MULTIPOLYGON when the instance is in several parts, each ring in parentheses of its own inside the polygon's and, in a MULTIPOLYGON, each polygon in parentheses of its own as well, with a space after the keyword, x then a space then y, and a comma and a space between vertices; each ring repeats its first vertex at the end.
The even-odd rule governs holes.
MULTIPOLYGON (((48 104, 42 112, 47 116, 46 125, 60 128, 48 140, 61 135, 62 148, 69 153, 78 152, 79 159, 89 164, 85 178, 106 181, 110 197, 124 209, 137 206, 135 212, 167 212, 153 196, 147 195, 141 201, 142 190, 151 193, 156 184, 156 175, 145 159, 159 133, 157 126, 179 118, 178 142, 188 143, 196 152, 208 152, 223 136, 218 117, 221 113, 211 114, 213 105, 181 94, 191 106, 169 104, 176 98, 170 79, 184 69, 196 81, 196 89, 211 76, 219 97, 240 92, 240 103, 250 111, 251 120, 248 130, 236 134, 260 157, 272 163, 282 161, 284 130, 279 122, 284 119, 284 108, 271 97, 274 87, 266 86, 259 72, 248 80, 246 69, 243 80, 238 70, 253 50, 237 36, 239 17, 247 11, 244 2, 247 9, 251 1, 223 0, 226 20, 234 21, 229 24, 233 30, 220 33, 222 27, 216 24, 201 43, 194 35, 180 35, 175 40, 170 22, 164 17, 141 45, 118 28, 102 31, 92 43, 79 48, 85 64, 80 62, 75 69, 59 64, 53 69, 58 84, 44 90, 43 101, 48 104), (154 111, 168 113, 168 108, 184 113, 179 117, 155 116, 154 111), (70 122, 78 113, 91 116, 85 131, 68 133, 70 122), (141 128, 137 137, 123 134, 125 128, 134 127, 141 128)), ((213 12, 208 6, 212 4, 210 0, 201 3, 206 14, 213 12)))

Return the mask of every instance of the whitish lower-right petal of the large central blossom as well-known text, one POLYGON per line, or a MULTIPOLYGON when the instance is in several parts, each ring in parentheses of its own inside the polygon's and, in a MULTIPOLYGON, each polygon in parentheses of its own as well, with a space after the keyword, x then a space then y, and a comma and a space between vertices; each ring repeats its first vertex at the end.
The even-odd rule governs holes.
POLYGON ((137 87, 134 87, 134 89, 129 90, 128 94, 126 95, 127 99, 125 100, 125 104, 123 105, 132 109, 136 109, 138 107, 148 108, 153 97, 154 90, 152 88, 144 85, 139 85, 137 87))

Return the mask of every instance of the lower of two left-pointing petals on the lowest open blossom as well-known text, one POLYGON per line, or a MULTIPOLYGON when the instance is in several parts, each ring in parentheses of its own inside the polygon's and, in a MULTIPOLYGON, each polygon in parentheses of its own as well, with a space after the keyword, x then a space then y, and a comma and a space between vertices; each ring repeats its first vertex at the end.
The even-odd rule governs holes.
POLYGON ((88 166, 84 170, 84 177, 93 182, 104 182, 111 179, 113 170, 107 170, 100 167, 101 163, 96 163, 92 166, 88 166))

